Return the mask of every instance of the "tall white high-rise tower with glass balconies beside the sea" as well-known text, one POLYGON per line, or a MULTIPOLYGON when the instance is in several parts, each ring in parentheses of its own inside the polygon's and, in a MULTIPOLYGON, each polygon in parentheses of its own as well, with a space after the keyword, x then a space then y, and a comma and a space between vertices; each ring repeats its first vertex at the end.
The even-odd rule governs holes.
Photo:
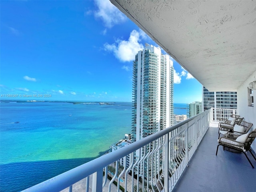
MULTIPOLYGON (((161 53, 160 47, 146 44, 136 54, 133 62, 133 141, 174 124, 173 75, 173 62, 170 56, 161 53)), ((152 146, 148 146, 147 150, 152 150, 152 146)), ((154 158, 157 159, 156 164, 161 166, 162 154, 154 158)), ((148 176, 151 176, 151 170, 159 172, 159 166, 149 164, 145 170, 148 176)))

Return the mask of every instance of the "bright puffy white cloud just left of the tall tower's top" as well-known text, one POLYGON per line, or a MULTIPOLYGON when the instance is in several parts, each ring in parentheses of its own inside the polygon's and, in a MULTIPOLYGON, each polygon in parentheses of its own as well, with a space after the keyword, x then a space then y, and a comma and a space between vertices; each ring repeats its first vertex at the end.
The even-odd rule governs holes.
POLYGON ((104 44, 104 50, 114 53, 114 56, 122 62, 130 62, 135 59, 135 55, 139 50, 144 47, 139 43, 141 38, 144 38, 141 32, 133 30, 130 33, 128 41, 126 40, 116 40, 114 44, 104 44))

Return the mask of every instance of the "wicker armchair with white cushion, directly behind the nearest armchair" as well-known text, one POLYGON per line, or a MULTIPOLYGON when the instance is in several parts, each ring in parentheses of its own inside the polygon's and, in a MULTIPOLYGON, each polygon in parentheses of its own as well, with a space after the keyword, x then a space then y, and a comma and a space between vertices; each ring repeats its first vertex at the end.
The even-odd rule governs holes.
POLYGON ((232 132, 232 130, 234 129, 234 126, 237 124, 237 125, 240 125, 240 126, 244 126, 244 133, 247 133, 250 128, 252 127, 252 124, 251 123, 248 123, 248 122, 245 122, 243 121, 243 117, 242 118, 237 118, 234 123, 230 123, 230 122, 224 122, 224 123, 219 123, 219 136, 218 138, 220 138, 220 134, 227 134, 228 132, 232 132), (243 123, 242 123, 243 122, 243 123), (251 124, 251 125, 248 125, 248 124, 251 124), (250 126, 250 128, 247 130, 247 127, 250 126))

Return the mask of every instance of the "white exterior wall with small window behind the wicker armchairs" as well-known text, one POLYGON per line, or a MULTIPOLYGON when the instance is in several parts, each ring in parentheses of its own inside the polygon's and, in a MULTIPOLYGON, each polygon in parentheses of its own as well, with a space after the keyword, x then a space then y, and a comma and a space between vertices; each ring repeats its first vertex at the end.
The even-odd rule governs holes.
MULTIPOLYGON (((256 90, 254 90, 254 107, 248 106, 247 87, 250 82, 256 81, 256 71, 237 90, 237 110, 244 121, 253 124, 251 130, 256 128, 256 90)), ((252 149, 256 152, 256 140, 252 143, 252 149)))

